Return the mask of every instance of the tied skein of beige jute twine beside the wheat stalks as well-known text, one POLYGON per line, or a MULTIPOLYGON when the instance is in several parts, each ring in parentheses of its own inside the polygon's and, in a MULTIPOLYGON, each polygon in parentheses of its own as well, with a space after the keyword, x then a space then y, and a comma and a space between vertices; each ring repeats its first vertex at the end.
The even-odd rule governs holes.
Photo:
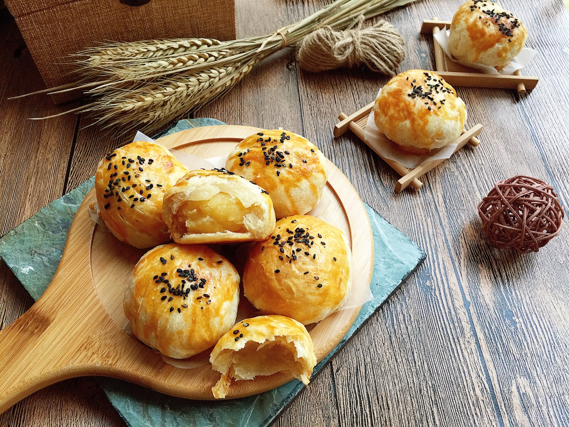
POLYGON ((319 28, 300 42, 296 59, 301 68, 310 72, 365 64, 369 69, 394 76, 405 59, 405 40, 386 20, 363 27, 364 18, 351 30, 335 31, 319 28))

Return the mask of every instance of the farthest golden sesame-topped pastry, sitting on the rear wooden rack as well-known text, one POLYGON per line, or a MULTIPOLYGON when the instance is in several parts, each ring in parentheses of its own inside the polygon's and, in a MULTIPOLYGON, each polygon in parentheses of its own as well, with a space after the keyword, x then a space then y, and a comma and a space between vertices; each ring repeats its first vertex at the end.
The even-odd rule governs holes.
POLYGON ((452 18, 448 49, 456 59, 498 69, 508 65, 526 42, 521 20, 496 3, 470 0, 452 18))

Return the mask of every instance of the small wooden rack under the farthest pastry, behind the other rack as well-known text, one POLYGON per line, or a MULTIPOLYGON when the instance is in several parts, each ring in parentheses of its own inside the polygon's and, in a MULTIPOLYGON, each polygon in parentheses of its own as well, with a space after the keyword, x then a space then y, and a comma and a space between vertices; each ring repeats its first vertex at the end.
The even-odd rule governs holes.
MULTIPOLYGON (((421 34, 436 34, 451 27, 450 20, 426 19, 421 26, 421 34)), ((519 69, 513 75, 484 74, 477 69, 453 62, 443 51, 439 42, 433 38, 436 73, 451 86, 471 86, 476 88, 516 89, 519 95, 535 88, 538 77, 523 76, 519 69)))

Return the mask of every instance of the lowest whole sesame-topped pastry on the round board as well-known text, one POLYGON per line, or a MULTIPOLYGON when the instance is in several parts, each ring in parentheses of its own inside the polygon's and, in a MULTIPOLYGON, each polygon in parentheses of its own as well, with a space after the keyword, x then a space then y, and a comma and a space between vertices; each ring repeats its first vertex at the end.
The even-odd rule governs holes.
POLYGON ((235 323, 239 274, 203 245, 151 249, 127 286, 123 309, 134 335, 176 359, 212 347, 235 323))

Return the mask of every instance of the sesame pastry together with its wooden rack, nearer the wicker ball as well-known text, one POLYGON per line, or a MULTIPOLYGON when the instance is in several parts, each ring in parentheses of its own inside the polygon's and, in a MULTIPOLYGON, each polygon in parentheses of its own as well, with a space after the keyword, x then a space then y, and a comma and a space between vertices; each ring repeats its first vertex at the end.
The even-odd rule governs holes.
POLYGON ((401 175, 395 183, 395 192, 409 186, 419 190, 423 186, 419 180, 421 175, 440 165, 467 143, 477 147, 480 141, 476 137, 483 128, 481 124, 470 129, 460 128, 467 119, 464 102, 438 73, 424 69, 405 71, 393 77, 375 101, 353 114, 340 113, 338 119, 340 121, 334 126, 335 137, 351 130, 401 175), (373 113, 373 121, 370 113, 373 113), (377 126, 384 134, 376 138, 380 141, 367 139, 368 124, 377 126), (385 146, 383 139, 389 139, 387 145, 393 145, 395 149, 385 146), (438 153, 438 157, 429 158, 437 154, 436 150, 447 152, 444 156, 438 153), (404 159, 408 154, 418 156, 418 161, 405 166, 400 162, 406 163, 404 159))

